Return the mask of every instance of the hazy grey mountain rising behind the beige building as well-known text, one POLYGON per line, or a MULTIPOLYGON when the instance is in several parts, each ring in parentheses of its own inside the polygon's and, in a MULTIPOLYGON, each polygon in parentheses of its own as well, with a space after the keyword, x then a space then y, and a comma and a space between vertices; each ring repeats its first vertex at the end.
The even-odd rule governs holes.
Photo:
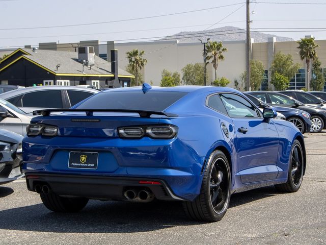
MULTIPOLYGON (((276 37, 276 41, 294 41, 289 37, 279 37, 262 32, 254 32, 254 30, 251 32, 251 38, 254 39, 254 42, 267 42, 267 37, 276 37)), ((202 39, 203 41, 207 38, 210 38, 211 41, 238 41, 246 40, 246 29, 240 29, 238 27, 221 27, 205 31, 179 32, 172 36, 164 37, 160 40, 167 40, 170 38, 179 39, 183 43, 198 42, 198 38, 202 39)))

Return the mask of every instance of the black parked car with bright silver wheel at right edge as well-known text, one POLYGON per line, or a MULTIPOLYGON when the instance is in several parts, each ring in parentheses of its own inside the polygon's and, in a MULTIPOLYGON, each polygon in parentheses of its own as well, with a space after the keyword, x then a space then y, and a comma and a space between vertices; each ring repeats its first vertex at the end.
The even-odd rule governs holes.
POLYGON ((248 93, 254 95, 262 102, 265 102, 271 106, 295 108, 308 112, 312 122, 311 129, 314 133, 318 133, 326 127, 326 110, 314 106, 307 106, 285 94, 278 92, 252 91, 248 93))

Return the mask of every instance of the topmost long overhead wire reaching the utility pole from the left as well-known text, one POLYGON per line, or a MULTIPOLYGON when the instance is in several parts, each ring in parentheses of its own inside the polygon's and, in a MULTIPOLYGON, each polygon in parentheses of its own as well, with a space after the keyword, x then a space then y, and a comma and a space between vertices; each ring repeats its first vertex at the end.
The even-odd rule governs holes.
POLYGON ((4 31, 4 30, 29 30, 29 29, 61 28, 61 27, 78 27, 78 26, 90 26, 90 25, 93 25, 93 24, 117 23, 117 22, 131 21, 131 20, 150 19, 150 18, 158 18, 158 17, 164 17, 164 16, 172 16, 172 15, 179 15, 179 14, 194 13, 194 12, 200 12, 200 11, 230 7, 230 6, 240 5, 240 4, 243 4, 243 2, 242 3, 236 3, 236 4, 228 4, 228 5, 216 6, 216 7, 211 7, 211 8, 205 8, 205 9, 197 9, 197 10, 184 11, 184 12, 178 12, 178 13, 172 13, 172 14, 161 14, 161 15, 154 15, 154 16, 147 16, 147 17, 131 18, 131 19, 120 19, 120 20, 111 20, 111 21, 102 21, 102 22, 93 22, 93 23, 83 23, 83 24, 65 24, 65 25, 62 25, 62 26, 4 28, 4 29, 0 29, 0 31, 4 31))

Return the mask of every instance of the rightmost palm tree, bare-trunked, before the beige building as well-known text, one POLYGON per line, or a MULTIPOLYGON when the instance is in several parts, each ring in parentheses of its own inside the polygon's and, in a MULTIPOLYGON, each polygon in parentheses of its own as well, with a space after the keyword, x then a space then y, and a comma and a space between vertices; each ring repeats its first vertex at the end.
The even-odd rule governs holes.
POLYGON ((314 37, 309 37, 309 38, 301 38, 300 41, 297 41, 296 43, 299 44, 297 47, 300 52, 300 58, 301 60, 306 60, 306 65, 307 65, 307 77, 308 77, 308 91, 310 91, 310 61, 314 60, 317 57, 316 53, 316 47, 319 47, 318 44, 315 43, 315 38, 314 37))

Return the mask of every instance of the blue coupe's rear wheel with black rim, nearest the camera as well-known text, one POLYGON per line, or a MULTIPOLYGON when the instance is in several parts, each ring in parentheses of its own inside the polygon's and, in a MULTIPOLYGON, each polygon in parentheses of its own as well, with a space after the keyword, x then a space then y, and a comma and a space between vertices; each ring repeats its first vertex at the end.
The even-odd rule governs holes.
POLYGON ((214 151, 203 171, 203 182, 198 197, 193 202, 183 202, 188 217, 208 222, 219 221, 230 203, 231 173, 227 157, 214 151))

